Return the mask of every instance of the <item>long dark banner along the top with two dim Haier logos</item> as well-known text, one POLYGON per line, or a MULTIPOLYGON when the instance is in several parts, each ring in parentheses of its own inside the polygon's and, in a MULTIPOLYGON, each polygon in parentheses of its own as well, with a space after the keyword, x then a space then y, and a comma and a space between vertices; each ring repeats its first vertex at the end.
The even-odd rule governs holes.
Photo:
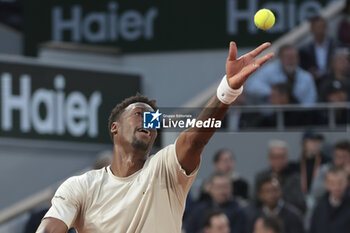
POLYGON ((125 52, 240 47, 273 41, 330 0, 33 0, 24 1, 25 52, 43 41, 117 46, 125 52), (275 26, 263 32, 254 14, 269 8, 275 26), (254 35, 254 36, 252 36, 254 35), (261 36, 260 36, 261 35, 261 36))

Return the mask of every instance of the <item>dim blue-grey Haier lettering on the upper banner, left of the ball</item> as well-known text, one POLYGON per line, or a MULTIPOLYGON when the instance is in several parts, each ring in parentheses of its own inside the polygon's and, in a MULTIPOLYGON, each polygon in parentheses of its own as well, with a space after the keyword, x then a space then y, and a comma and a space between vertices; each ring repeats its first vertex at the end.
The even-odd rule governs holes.
POLYGON ((80 5, 70 9, 69 17, 63 18, 60 6, 52 8, 52 39, 63 40, 63 32, 70 32, 70 40, 80 42, 107 42, 124 39, 135 41, 141 38, 150 40, 154 37, 154 22, 158 16, 158 9, 151 7, 142 15, 136 10, 117 12, 118 3, 110 2, 107 12, 90 12, 84 14, 80 5), (83 17, 84 16, 84 17, 83 17), (92 25, 97 29, 92 30, 92 25))

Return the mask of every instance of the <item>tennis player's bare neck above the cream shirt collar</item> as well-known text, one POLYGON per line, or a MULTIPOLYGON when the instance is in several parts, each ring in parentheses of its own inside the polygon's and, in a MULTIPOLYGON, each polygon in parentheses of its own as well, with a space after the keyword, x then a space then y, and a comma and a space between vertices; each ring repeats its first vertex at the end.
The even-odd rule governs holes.
POLYGON ((111 171, 115 176, 128 177, 142 169, 146 161, 144 152, 130 150, 125 151, 120 146, 114 145, 114 156, 111 171))

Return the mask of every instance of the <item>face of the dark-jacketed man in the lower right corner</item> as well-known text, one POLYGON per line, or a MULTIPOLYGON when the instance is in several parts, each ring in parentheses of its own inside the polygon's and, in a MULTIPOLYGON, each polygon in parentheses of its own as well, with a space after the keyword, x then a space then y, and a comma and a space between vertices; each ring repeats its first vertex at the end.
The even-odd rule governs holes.
POLYGON ((326 189, 335 200, 341 200, 346 188, 348 179, 345 172, 328 173, 325 182, 326 189))

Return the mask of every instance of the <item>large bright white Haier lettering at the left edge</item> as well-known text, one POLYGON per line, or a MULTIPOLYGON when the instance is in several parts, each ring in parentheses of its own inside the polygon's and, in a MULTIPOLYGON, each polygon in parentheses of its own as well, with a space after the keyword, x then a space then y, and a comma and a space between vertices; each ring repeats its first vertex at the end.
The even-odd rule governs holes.
POLYGON ((20 130, 35 130, 39 134, 62 135, 68 132, 74 137, 87 134, 98 136, 98 109, 102 103, 99 91, 90 98, 79 91, 64 93, 65 78, 54 78, 55 90, 39 88, 32 92, 31 77, 23 74, 19 78, 19 93, 13 94, 12 76, 1 75, 1 128, 13 129, 13 112, 20 116, 20 130), (41 109, 45 109, 43 116, 41 109))

